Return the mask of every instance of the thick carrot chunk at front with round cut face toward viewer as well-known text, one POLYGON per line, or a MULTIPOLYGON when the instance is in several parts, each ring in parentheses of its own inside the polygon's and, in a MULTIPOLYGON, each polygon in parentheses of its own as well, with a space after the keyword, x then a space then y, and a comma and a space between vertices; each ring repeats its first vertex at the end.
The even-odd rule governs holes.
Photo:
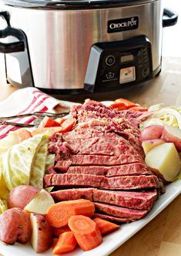
POLYGON ((69 218, 69 227, 83 251, 89 251, 102 243, 102 235, 96 222, 83 215, 69 218))

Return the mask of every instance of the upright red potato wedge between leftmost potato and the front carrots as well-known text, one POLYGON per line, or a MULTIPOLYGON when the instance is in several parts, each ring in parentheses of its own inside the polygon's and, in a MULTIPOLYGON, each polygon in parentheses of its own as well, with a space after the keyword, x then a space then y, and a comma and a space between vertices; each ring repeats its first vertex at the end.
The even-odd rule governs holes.
POLYGON ((32 224, 31 244, 34 250, 39 253, 48 250, 53 244, 52 227, 40 214, 30 214, 32 224))

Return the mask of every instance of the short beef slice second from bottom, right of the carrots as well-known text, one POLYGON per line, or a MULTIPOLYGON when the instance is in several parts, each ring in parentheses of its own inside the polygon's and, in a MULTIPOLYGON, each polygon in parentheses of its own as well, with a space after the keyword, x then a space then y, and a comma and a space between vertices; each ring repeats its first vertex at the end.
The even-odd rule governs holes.
POLYGON ((96 212, 108 214, 115 217, 130 218, 132 220, 139 220, 144 217, 148 210, 135 210, 126 207, 119 207, 111 204, 94 203, 96 212))

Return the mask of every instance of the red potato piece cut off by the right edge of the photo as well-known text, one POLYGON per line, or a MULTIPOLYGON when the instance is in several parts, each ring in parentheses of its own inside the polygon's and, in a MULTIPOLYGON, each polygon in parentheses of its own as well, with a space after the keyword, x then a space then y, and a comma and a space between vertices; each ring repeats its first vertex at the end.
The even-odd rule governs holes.
POLYGON ((176 149, 181 152, 181 130, 173 126, 164 126, 162 139, 174 143, 176 149))

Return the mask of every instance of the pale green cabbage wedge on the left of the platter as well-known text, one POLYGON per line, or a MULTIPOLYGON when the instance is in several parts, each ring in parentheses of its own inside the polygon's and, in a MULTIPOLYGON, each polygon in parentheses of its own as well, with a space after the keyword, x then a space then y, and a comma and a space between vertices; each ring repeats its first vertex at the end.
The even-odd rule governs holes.
POLYGON ((48 136, 37 135, 10 147, 1 155, 2 174, 8 190, 30 184, 35 157, 48 136))

